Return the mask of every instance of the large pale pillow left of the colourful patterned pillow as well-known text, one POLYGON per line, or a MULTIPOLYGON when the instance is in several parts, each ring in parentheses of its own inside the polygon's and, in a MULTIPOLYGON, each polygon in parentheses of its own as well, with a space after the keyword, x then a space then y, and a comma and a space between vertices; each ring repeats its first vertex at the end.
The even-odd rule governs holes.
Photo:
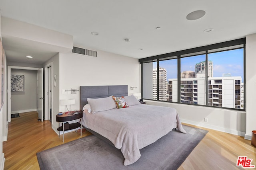
POLYGON ((92 114, 98 111, 105 111, 116 108, 116 104, 112 98, 109 96, 107 98, 98 98, 98 99, 91 99, 88 98, 87 102, 90 104, 92 109, 92 114))

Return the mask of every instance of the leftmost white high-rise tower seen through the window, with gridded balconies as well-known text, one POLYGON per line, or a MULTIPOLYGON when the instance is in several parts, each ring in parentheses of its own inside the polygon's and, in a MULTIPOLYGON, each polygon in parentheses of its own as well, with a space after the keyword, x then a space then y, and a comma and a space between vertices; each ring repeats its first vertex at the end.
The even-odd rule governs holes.
MULTIPOLYGON (((167 72, 165 68, 159 68, 159 100, 167 101, 167 72)), ((153 68, 153 100, 157 100, 157 69, 153 68)))

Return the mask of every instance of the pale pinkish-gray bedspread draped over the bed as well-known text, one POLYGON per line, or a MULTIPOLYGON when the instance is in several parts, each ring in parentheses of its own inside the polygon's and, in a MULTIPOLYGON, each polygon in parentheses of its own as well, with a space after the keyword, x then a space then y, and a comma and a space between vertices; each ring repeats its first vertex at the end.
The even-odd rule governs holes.
POLYGON ((138 104, 121 109, 84 111, 82 124, 109 139, 124 155, 124 165, 140 158, 140 149, 154 143, 173 128, 182 128, 176 109, 138 104))

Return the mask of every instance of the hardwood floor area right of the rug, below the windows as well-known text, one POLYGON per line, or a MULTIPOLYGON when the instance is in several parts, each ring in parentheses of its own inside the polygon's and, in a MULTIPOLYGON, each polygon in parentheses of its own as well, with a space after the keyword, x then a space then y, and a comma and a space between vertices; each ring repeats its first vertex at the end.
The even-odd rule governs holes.
POLYGON ((252 165, 256 166, 256 147, 251 145, 250 140, 212 129, 197 128, 208 130, 208 133, 186 158, 179 170, 243 169, 241 166, 236 166, 238 156, 247 156, 248 159, 252 159, 252 165))

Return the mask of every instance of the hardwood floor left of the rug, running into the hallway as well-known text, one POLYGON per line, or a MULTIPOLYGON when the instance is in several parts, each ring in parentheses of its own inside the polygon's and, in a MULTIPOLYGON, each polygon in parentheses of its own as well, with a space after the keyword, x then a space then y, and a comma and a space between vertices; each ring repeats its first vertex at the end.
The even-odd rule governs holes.
MULTIPOLYGON (((20 113, 20 117, 12 118, 8 127, 8 139, 3 143, 5 170, 39 170, 36 152, 63 144, 51 127, 50 121, 39 122, 37 112, 20 113)), ((82 137, 90 135, 83 132, 82 137)), ((80 133, 65 134, 65 142, 79 139, 80 133)))

